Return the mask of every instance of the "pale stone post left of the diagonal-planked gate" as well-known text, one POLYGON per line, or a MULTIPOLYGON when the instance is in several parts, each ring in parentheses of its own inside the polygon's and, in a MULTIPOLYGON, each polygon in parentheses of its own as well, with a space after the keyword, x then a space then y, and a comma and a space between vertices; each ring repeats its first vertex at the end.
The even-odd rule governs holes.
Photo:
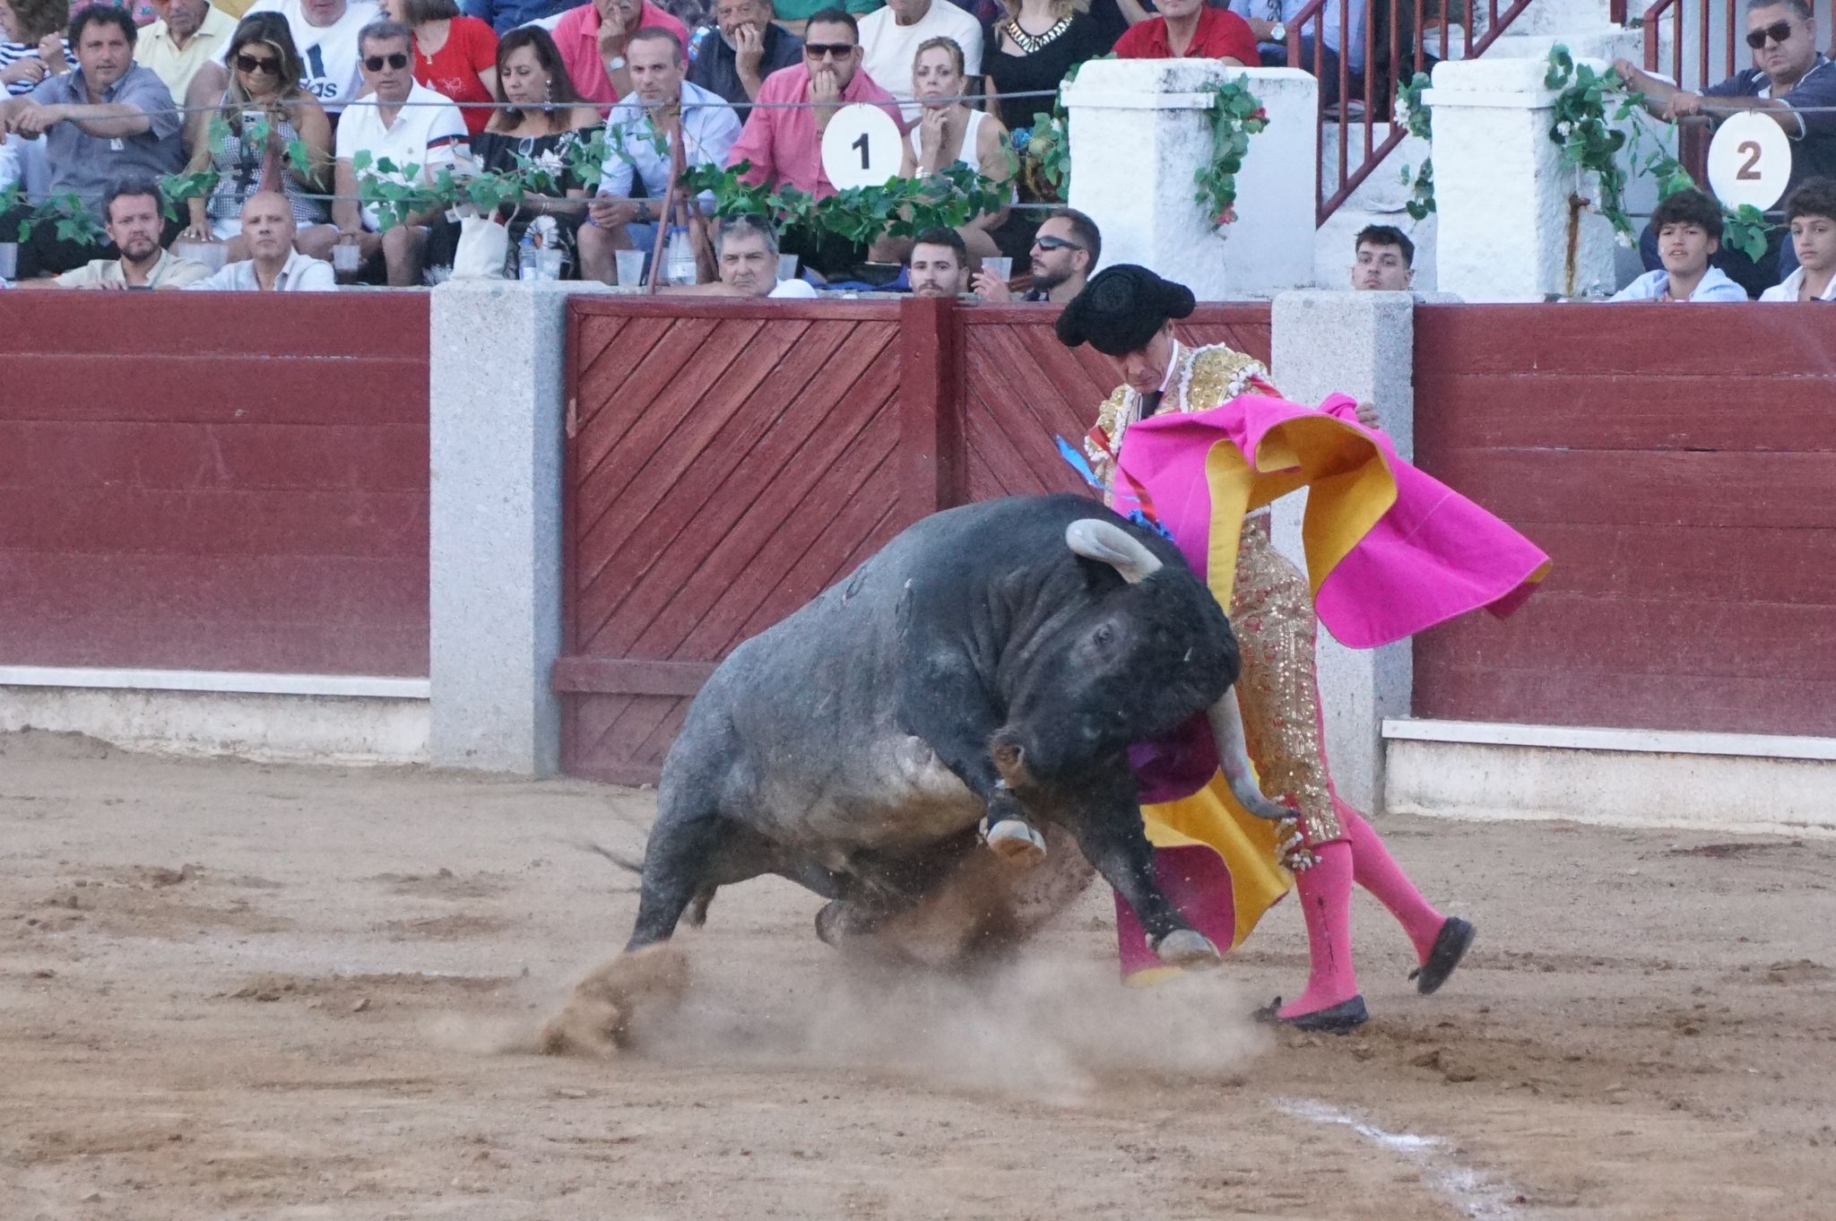
POLYGON ((433 290, 428 521, 437 767, 549 775, 560 701, 565 301, 599 285, 433 290))

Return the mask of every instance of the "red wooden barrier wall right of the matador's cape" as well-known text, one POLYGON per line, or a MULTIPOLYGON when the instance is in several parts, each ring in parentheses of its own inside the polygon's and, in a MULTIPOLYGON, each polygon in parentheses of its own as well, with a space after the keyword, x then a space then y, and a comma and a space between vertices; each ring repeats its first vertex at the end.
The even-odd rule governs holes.
POLYGON ((1419 307, 1416 457, 1555 560, 1416 716, 1836 734, 1836 310, 1419 307))

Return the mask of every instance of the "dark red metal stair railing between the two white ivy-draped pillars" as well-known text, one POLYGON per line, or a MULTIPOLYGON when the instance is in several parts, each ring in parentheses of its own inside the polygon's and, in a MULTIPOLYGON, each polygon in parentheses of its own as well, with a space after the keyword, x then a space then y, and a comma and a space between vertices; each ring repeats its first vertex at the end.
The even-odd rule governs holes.
MULTIPOLYGON (((1311 72, 1315 79, 1322 75, 1326 66, 1327 2, 1329 0, 1309 0, 1307 6, 1294 15, 1294 20, 1287 22, 1287 66, 1311 72), (1313 37, 1311 66, 1305 62, 1305 55, 1302 51, 1302 39, 1309 37, 1309 33, 1313 37)), ((1623 4, 1625 0, 1619 2, 1623 4)), ((1674 0, 1663 0, 1663 2, 1673 4, 1674 0)), ((1469 9, 1471 4, 1472 0, 1434 0, 1434 6, 1443 9, 1443 13, 1436 18, 1439 22, 1439 48, 1438 48, 1439 53, 1432 53, 1428 46, 1430 39, 1423 37, 1425 18, 1430 7, 1428 0, 1370 0, 1370 4, 1364 6, 1364 57, 1362 62, 1359 64, 1362 72, 1353 73, 1346 55, 1340 53, 1337 57, 1338 106, 1337 108, 1327 108, 1326 105, 1320 106, 1320 119, 1318 119, 1320 145, 1324 147, 1326 143, 1327 125, 1335 125, 1338 129, 1338 187, 1331 195, 1327 195, 1324 167, 1315 169, 1315 178, 1313 178, 1315 224, 1326 224, 1326 218, 1331 217, 1335 211, 1338 211, 1338 207, 1348 198, 1351 198, 1351 193, 1357 191, 1364 184, 1364 180, 1371 176, 1371 171, 1375 171, 1377 165, 1381 165, 1383 160, 1390 156, 1390 152, 1399 143, 1403 143, 1403 138, 1408 132, 1401 125, 1392 123, 1392 114, 1390 114, 1392 101, 1395 97, 1395 88, 1405 79, 1405 73, 1397 72, 1397 66, 1399 64, 1406 66, 1406 75, 1412 77, 1414 73, 1423 72, 1428 66, 1430 59, 1449 57, 1454 40, 1452 40, 1452 31, 1447 24, 1449 22, 1447 9, 1449 7, 1465 9, 1463 13, 1465 24, 1461 26, 1461 59, 1472 59, 1474 55, 1482 55, 1485 48, 1489 48, 1498 39, 1498 35, 1502 35, 1511 26, 1511 22, 1522 17, 1522 13, 1529 7, 1531 0, 1511 0, 1504 7, 1500 7, 1500 0, 1485 0, 1485 17, 1487 17, 1485 33, 1476 39, 1472 37, 1474 22, 1469 9), (1384 48, 1379 48, 1379 39, 1377 39, 1379 4, 1384 6, 1384 15, 1388 18, 1384 22, 1388 31, 1386 39, 1388 46, 1384 48), (1403 48, 1405 17, 1414 18, 1408 24, 1414 40, 1412 48, 1403 48), (1388 51, 1388 55, 1379 53, 1384 50, 1388 51), (1388 75, 1384 75, 1386 72, 1388 75), (1362 103, 1357 114, 1353 114, 1351 106, 1346 105, 1348 101, 1353 101, 1351 86, 1355 81, 1362 83, 1362 95, 1355 99, 1362 103), (1379 88, 1379 81, 1383 83, 1383 88, 1379 88), (1377 140, 1379 121, 1390 125, 1390 132, 1383 140, 1377 140), (1362 129, 1362 134, 1359 136, 1351 129, 1362 129), (1362 152, 1359 160, 1353 163, 1351 145, 1355 140, 1362 143, 1362 152)), ((1351 18, 1348 6, 1340 6, 1338 9, 1340 48, 1346 48, 1351 42, 1349 22, 1351 18)))

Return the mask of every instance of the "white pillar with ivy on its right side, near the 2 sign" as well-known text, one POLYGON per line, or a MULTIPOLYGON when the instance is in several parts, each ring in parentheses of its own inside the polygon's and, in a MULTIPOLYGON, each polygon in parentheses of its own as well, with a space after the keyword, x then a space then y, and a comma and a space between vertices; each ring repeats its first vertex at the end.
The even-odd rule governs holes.
MULTIPOLYGON (((1606 64, 1594 64, 1606 68, 1606 64)), ((1561 165, 1550 140, 1555 92, 1540 59, 1467 59, 1434 68, 1436 286, 1465 301, 1542 301, 1610 292, 1612 226, 1592 207, 1592 174, 1561 165)))

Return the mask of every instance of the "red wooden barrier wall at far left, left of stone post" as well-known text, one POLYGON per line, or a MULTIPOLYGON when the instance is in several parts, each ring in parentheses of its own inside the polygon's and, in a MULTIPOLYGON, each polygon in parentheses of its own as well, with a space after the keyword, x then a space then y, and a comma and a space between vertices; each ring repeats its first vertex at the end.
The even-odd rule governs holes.
POLYGON ((0 665, 428 672, 424 294, 0 294, 0 665))

